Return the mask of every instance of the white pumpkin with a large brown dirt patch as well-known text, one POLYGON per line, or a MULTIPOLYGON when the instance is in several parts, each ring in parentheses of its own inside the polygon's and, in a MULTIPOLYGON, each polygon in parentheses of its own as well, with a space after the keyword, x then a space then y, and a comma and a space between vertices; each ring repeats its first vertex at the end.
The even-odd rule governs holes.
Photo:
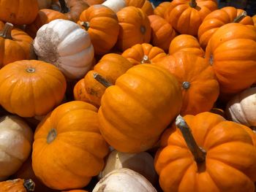
POLYGON ((70 20, 53 20, 39 28, 33 45, 39 60, 54 64, 69 80, 82 78, 93 63, 89 33, 70 20))

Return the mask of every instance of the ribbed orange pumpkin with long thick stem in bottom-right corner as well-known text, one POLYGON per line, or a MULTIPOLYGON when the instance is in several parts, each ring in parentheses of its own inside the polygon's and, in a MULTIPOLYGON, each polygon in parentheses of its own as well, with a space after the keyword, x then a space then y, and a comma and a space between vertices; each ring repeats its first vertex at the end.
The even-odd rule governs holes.
POLYGON ((256 147, 244 126, 211 112, 178 116, 176 126, 155 157, 163 191, 255 190, 256 147))

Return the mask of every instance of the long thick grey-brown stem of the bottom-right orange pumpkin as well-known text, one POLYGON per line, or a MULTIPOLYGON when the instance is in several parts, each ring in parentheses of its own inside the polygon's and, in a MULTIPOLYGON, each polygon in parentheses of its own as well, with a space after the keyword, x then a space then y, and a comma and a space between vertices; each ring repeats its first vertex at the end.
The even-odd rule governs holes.
POLYGON ((197 164, 203 163, 206 160, 206 151, 198 147, 189 126, 181 115, 178 115, 176 118, 176 126, 181 130, 181 134, 187 143, 187 147, 189 147, 189 150, 194 155, 197 164))

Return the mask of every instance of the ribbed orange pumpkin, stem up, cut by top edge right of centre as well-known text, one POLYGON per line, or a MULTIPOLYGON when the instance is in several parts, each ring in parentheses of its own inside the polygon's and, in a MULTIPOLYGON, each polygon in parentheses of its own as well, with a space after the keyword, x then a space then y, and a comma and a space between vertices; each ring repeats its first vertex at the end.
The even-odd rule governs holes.
POLYGON ((173 0, 165 12, 165 19, 180 34, 197 36, 203 19, 217 8, 216 0, 173 0))

